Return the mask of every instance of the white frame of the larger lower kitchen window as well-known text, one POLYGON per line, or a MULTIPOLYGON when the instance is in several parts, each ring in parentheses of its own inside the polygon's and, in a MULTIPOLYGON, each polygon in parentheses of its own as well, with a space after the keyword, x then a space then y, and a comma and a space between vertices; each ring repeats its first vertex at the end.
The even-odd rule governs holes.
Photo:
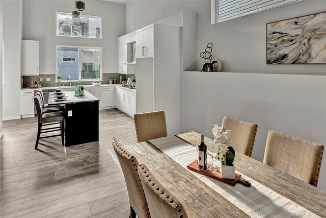
MULTIPOLYGON (((103 80, 103 48, 102 47, 95 47, 95 46, 82 46, 82 45, 56 45, 56 78, 57 78, 57 72, 58 72, 58 63, 57 63, 57 51, 58 47, 75 47, 78 48, 78 80, 71 80, 71 81, 99 81, 103 80), (81 79, 82 78, 82 70, 80 70, 82 67, 82 49, 99 49, 101 53, 101 58, 100 58, 100 78, 99 79, 81 79)), ((64 80, 65 81, 65 80, 64 80)))

